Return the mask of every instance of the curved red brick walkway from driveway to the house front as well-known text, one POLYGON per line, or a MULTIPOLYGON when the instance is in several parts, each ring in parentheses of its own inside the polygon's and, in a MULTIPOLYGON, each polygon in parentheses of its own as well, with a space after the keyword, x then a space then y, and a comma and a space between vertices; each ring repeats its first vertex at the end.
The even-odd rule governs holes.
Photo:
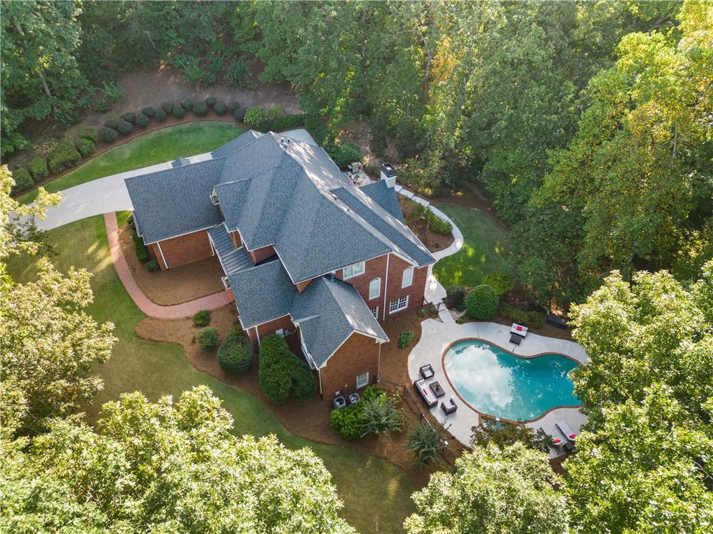
POLYGON ((133 279, 133 276, 131 276, 131 271, 128 263, 126 263, 124 254, 121 251, 121 245, 119 244, 116 213, 113 211, 105 213, 104 224, 106 225, 106 236, 109 240, 111 261, 114 263, 116 273, 118 274, 121 283, 123 283, 126 292, 131 297, 131 300, 133 300, 138 308, 146 315, 159 319, 178 319, 190 317, 198 310, 215 310, 215 308, 220 308, 221 306, 232 302, 230 293, 227 291, 221 291, 220 293, 213 293, 212 295, 207 295, 195 300, 190 300, 190 302, 176 304, 173 306, 160 306, 153 303, 146 295, 143 294, 143 291, 139 288, 136 281, 133 279))

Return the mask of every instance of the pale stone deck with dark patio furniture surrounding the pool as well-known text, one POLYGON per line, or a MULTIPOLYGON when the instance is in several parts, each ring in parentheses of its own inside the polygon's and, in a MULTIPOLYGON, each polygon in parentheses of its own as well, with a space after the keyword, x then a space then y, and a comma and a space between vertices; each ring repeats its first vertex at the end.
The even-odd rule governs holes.
MULTIPOLYGON (((527 337, 520 343, 514 345, 510 342, 510 327, 499 325, 498 323, 439 323, 433 319, 426 319, 421 323, 421 340, 411 350, 409 354, 409 377, 411 382, 419 379, 419 368, 422 365, 431 364, 434 367, 434 379, 438 380, 446 392, 445 397, 438 399, 438 406, 432 408, 431 415, 441 422, 443 428, 448 430, 461 443, 470 446, 471 427, 480 423, 480 415, 474 409, 465 404, 451 387, 443 370, 443 353, 453 342, 463 339, 481 339, 498 345, 515 355, 531 357, 543 353, 562 354, 573 358, 580 364, 586 364, 589 360, 584 349, 575 342, 558 340, 554 337, 528 333, 527 337), (446 416, 441 410, 441 402, 453 397, 458 404, 458 410, 446 416)), ((426 404, 423 405, 424 410, 426 404)), ((555 423, 564 420, 575 431, 579 432, 580 426, 586 421, 584 414, 577 408, 555 408, 533 422, 528 422, 530 428, 542 428, 550 436, 562 437, 555 423)), ((551 456, 557 456, 556 451, 550 452, 551 456)))

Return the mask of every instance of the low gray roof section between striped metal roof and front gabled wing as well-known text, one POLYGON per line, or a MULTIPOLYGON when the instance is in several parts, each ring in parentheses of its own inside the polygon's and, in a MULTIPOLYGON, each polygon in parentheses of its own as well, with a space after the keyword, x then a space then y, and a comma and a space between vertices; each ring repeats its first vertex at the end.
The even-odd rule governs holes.
POLYGON ((243 328, 287 315, 297 288, 278 259, 227 276, 243 328))

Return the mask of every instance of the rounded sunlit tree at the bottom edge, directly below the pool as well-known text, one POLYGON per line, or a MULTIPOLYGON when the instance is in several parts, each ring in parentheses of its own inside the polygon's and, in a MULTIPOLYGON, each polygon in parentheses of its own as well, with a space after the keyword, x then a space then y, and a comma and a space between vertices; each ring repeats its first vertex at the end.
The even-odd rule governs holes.
POLYGON ((452 473, 434 473, 414 493, 417 511, 404 527, 409 534, 566 533, 565 498, 554 483, 560 478, 543 453, 520 443, 476 446, 452 473))

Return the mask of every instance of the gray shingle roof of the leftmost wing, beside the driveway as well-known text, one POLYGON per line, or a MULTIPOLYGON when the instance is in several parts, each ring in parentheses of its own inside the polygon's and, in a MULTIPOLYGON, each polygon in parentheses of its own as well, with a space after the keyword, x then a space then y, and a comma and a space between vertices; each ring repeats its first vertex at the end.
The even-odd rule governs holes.
POLYGON ((210 201, 223 159, 208 159, 125 179, 146 244, 188 234, 222 221, 210 201))

